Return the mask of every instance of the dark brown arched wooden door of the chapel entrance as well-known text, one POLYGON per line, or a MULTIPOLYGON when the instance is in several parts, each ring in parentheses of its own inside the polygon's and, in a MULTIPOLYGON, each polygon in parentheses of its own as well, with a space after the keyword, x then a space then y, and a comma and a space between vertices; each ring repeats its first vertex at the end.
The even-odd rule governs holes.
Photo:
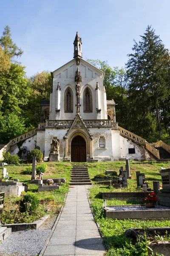
POLYGON ((80 135, 71 142, 71 162, 86 162, 86 143, 80 135))

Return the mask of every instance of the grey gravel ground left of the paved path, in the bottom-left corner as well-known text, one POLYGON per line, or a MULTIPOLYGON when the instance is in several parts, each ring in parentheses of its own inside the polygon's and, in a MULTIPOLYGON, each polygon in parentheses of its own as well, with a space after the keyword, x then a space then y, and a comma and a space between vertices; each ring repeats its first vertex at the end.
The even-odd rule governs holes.
POLYGON ((12 232, 6 240, 0 243, 0 256, 36 256, 51 231, 56 216, 49 217, 39 230, 24 230, 12 232))

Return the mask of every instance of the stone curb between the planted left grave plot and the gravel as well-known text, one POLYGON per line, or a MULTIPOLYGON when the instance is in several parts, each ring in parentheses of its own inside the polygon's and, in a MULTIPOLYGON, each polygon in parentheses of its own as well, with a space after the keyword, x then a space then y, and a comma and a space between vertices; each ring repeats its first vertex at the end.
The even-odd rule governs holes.
POLYGON ((41 217, 39 220, 34 221, 32 223, 6 224, 2 225, 2 227, 11 227, 12 232, 23 231, 27 229, 38 229, 49 216, 49 214, 45 215, 41 217))

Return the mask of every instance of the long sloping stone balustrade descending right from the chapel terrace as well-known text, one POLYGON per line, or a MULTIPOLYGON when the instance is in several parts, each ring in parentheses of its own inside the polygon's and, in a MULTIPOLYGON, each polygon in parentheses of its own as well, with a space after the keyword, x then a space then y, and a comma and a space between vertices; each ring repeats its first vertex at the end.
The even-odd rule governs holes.
POLYGON ((143 145, 151 154, 153 154, 157 159, 160 159, 159 157, 159 150, 154 148, 152 145, 150 145, 146 140, 144 140, 142 137, 139 137, 136 134, 133 134, 130 131, 125 130, 124 128, 119 127, 120 134, 123 137, 126 137, 127 139, 133 140, 134 142, 143 145))

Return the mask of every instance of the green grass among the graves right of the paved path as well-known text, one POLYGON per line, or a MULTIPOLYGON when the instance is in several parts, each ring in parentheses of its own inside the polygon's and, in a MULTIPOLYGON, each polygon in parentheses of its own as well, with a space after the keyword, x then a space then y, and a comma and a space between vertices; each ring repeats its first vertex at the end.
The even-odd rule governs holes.
MULTIPOLYGON (((90 177, 94 183, 94 176, 99 173, 105 173, 105 170, 114 170, 119 173, 120 166, 124 166, 125 162, 108 162, 108 163, 95 163, 90 164, 88 168, 90 177)), ((159 174, 160 167, 170 168, 170 164, 156 164, 153 163, 139 165, 132 164, 130 162, 130 174, 132 179, 128 180, 128 188, 115 189, 112 186, 104 186, 95 184, 90 189, 90 201, 95 219, 99 223, 102 236, 108 245, 106 256, 145 256, 147 254, 147 241, 141 241, 132 244, 129 239, 126 239, 124 232, 128 228, 147 228, 147 227, 170 227, 169 220, 155 221, 155 220, 136 220, 136 219, 125 219, 125 220, 113 220, 111 218, 105 218, 102 210, 103 200, 100 197, 99 192, 135 192, 136 190, 136 171, 145 174, 145 180, 149 183, 149 187, 153 188, 153 180, 157 180, 161 185, 161 175, 159 174)), ((128 204, 139 204, 139 202, 127 202, 116 199, 106 200, 107 205, 128 205, 128 204)), ((143 204, 143 202, 141 202, 143 204)))

